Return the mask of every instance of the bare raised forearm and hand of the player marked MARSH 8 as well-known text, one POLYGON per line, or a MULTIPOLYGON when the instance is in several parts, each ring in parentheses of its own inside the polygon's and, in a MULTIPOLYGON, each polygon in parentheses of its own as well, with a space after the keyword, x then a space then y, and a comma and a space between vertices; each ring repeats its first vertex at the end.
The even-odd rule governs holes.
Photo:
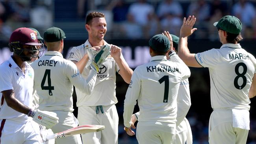
POLYGON ((196 18, 194 16, 189 16, 183 19, 182 27, 180 28, 180 41, 178 44, 178 56, 186 63, 187 66, 192 67, 202 67, 197 63, 195 59, 195 54, 190 54, 189 49, 187 47, 187 37, 191 35, 197 28, 193 28, 196 22, 196 18), (193 28, 193 29, 192 29, 193 28))

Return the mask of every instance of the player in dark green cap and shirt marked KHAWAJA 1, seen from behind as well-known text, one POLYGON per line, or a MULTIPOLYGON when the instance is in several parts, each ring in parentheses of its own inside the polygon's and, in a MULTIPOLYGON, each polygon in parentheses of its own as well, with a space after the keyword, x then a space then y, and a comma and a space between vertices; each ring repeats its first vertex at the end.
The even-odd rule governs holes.
POLYGON ((124 126, 126 132, 131 131, 131 116, 138 100, 140 114, 136 138, 139 144, 173 144, 178 89, 181 80, 190 76, 190 71, 173 50, 171 36, 154 35, 149 46, 151 61, 134 70, 126 92, 124 126), (168 61, 165 55, 170 47, 172 54, 168 61))

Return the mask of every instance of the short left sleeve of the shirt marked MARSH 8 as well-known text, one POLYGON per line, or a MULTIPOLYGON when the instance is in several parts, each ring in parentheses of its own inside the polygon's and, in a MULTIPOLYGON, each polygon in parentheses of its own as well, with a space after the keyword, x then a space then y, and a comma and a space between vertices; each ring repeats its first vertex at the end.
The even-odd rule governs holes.
POLYGON ((222 59, 221 54, 215 49, 200 52, 195 55, 199 65, 203 67, 213 68, 222 59))

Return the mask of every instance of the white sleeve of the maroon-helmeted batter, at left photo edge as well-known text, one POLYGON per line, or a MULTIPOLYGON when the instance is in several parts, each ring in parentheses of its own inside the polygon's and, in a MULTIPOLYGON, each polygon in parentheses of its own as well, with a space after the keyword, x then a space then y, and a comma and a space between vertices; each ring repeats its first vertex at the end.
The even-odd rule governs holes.
POLYGON ((1 83, 0 83, 0 92, 4 91, 4 90, 9 90, 9 89, 13 89, 13 84, 12 84, 12 73, 10 72, 9 69, 7 70, 3 70, 1 68, 0 70, 0 79, 1 79, 1 83))

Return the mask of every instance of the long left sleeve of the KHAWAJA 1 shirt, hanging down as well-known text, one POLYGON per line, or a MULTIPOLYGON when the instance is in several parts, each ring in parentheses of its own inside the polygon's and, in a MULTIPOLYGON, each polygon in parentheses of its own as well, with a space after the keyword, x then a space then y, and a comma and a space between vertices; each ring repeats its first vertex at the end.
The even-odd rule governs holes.
POLYGON ((136 105, 136 100, 139 97, 141 89, 141 80, 139 78, 138 69, 134 70, 132 74, 132 78, 127 89, 125 100, 124 100, 124 126, 130 127, 131 126, 131 117, 134 111, 134 105, 136 105))

